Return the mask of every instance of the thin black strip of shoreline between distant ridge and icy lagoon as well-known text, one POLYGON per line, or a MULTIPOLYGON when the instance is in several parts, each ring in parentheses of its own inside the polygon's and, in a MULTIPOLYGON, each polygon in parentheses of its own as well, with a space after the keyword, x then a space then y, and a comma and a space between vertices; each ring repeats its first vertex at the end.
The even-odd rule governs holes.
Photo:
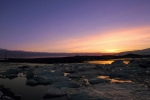
POLYGON ((0 62, 15 62, 15 63, 83 63, 85 61, 93 60, 110 60, 110 59, 122 59, 122 58, 150 58, 150 55, 124 55, 124 56, 72 56, 72 57, 52 57, 52 58, 8 58, 0 60, 0 62))

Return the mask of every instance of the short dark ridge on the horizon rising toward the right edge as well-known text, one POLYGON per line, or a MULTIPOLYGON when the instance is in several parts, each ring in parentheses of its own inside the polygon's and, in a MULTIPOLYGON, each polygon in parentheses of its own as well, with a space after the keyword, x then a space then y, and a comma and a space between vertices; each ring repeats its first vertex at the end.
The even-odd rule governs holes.
POLYGON ((134 51, 121 52, 118 55, 127 55, 127 54, 136 54, 136 55, 150 55, 150 48, 134 51))

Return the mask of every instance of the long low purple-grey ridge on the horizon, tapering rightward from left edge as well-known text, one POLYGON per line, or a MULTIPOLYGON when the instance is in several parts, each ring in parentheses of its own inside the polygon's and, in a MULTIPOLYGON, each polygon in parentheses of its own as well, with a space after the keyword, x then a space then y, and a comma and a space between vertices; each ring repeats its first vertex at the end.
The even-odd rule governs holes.
POLYGON ((111 53, 47 53, 47 52, 27 52, 18 50, 7 50, 0 48, 0 58, 46 58, 46 57, 66 57, 66 56, 101 56, 112 55, 111 53))

